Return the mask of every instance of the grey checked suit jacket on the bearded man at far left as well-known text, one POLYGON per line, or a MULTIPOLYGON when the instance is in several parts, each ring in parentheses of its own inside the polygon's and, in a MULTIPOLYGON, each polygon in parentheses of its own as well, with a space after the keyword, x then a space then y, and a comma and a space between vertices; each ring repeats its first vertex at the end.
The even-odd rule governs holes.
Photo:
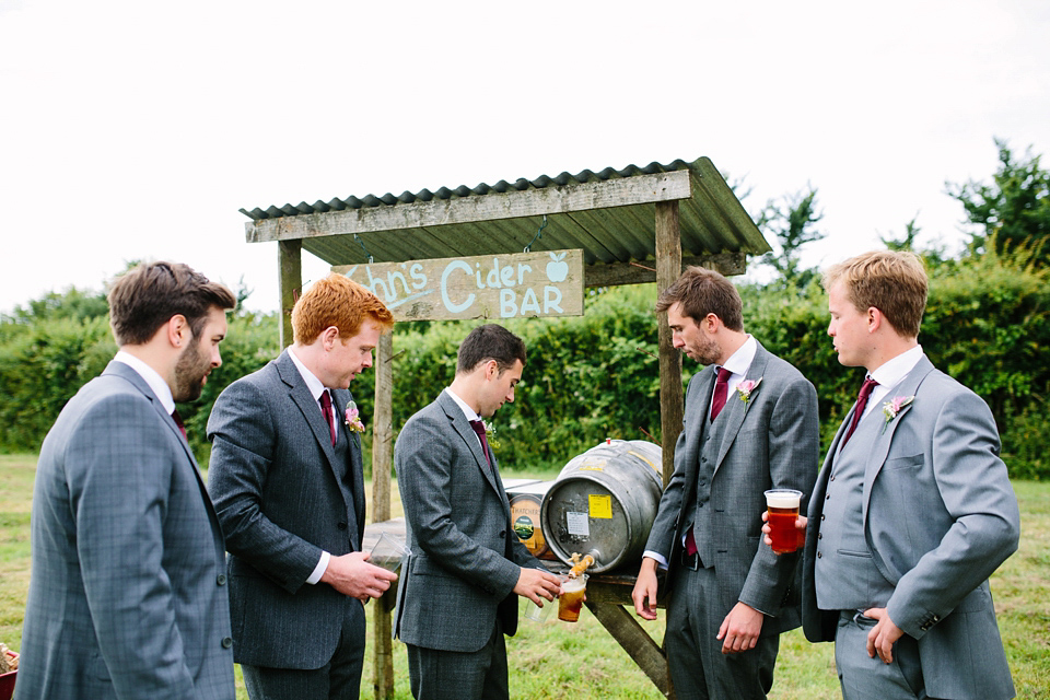
POLYGON ((14 697, 234 698, 222 534, 149 385, 110 362, 40 448, 14 697))

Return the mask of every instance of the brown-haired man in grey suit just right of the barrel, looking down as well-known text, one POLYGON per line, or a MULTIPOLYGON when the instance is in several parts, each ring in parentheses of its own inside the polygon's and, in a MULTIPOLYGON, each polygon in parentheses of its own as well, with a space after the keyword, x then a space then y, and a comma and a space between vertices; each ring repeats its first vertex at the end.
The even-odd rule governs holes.
POLYGON ((744 331, 736 288, 690 267, 657 300, 674 345, 708 365, 689 382, 675 471, 632 598, 656 619, 667 568, 664 645, 676 697, 765 698, 779 635, 800 625, 797 555, 759 547, 765 491, 805 504, 817 472, 817 394, 744 331))

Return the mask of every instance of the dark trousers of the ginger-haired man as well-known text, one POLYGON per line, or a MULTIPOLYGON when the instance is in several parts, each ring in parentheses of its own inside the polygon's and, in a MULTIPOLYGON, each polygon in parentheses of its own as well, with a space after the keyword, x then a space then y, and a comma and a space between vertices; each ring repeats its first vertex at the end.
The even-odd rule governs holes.
MULTIPOLYGON (((355 602, 351 602, 355 603, 355 602)), ((364 664, 364 606, 348 605, 336 653, 320 668, 241 665, 252 700, 359 700, 364 664)))

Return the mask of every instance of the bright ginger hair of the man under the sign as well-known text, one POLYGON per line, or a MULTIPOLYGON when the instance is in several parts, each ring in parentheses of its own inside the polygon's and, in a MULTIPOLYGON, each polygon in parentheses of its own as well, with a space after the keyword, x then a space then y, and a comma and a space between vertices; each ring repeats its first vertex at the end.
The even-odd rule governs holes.
POLYGON ((361 330, 371 318, 383 331, 394 325, 394 315, 380 299, 364 287, 332 272, 311 284, 292 307, 292 334, 304 346, 317 339, 325 328, 335 326, 343 340, 361 330))

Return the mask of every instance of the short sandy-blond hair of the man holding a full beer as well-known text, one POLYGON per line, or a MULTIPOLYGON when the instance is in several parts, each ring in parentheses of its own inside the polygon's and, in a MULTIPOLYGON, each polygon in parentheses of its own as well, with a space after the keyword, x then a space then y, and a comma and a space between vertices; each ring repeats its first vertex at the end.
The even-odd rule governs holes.
POLYGON ((832 265, 824 273, 824 289, 845 284, 847 299, 858 311, 874 306, 898 335, 919 336, 926 308, 926 270, 914 253, 874 250, 832 265))

